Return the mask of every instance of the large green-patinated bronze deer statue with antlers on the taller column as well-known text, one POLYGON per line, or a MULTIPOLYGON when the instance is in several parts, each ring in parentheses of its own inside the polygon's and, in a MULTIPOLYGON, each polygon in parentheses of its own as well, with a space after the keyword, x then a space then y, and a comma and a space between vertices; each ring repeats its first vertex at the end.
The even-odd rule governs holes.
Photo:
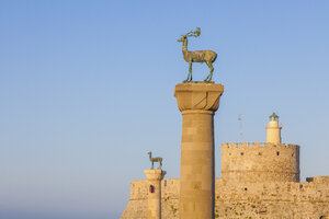
POLYGON ((188 50, 188 37, 194 36, 198 37, 201 34, 201 28, 197 27, 196 31, 190 31, 188 34, 183 35, 178 42, 183 42, 183 56, 185 61, 189 62, 189 74, 188 79, 184 81, 192 81, 192 62, 206 62, 208 68, 211 69, 209 74, 204 80, 205 82, 212 81, 214 67, 213 62, 217 58, 217 54, 212 50, 196 50, 196 51, 189 51, 188 50))

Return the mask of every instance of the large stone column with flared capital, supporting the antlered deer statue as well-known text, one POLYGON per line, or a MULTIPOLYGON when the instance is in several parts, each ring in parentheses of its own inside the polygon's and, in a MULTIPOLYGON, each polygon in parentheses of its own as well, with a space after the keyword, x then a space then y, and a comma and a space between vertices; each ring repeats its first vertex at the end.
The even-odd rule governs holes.
POLYGON ((215 205, 214 114, 222 84, 179 83, 174 89, 183 115, 180 219, 213 219, 215 205))

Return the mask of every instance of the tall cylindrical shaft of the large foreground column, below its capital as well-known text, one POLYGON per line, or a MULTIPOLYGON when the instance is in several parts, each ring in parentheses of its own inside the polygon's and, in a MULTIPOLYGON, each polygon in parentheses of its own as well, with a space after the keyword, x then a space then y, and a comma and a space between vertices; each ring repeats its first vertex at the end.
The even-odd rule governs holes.
POLYGON ((180 216, 211 219, 215 193, 213 112, 192 110, 182 114, 180 216))

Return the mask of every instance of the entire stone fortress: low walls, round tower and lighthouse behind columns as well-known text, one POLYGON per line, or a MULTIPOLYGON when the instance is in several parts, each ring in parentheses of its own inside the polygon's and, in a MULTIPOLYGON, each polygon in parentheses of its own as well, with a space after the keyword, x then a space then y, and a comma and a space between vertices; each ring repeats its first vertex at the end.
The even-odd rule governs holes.
MULTIPOLYGON (((215 218, 329 219, 329 176, 299 182, 299 146, 281 143, 281 128, 273 113, 265 143, 222 145, 215 218)), ((147 181, 132 182, 122 219, 147 219, 147 181)), ((180 180, 162 180, 161 189, 161 218, 178 219, 180 180)))

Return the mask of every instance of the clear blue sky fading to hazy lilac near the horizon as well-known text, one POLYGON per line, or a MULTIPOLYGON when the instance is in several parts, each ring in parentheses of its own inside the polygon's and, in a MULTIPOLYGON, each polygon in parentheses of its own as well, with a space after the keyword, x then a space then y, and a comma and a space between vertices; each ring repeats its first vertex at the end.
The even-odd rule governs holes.
MULTIPOLYGON (((329 1, 0 1, 0 218, 120 218, 148 151, 180 174, 177 39, 218 54, 220 143, 275 112, 302 178, 329 175, 329 1)), ((203 80, 206 65, 193 66, 203 80)))

